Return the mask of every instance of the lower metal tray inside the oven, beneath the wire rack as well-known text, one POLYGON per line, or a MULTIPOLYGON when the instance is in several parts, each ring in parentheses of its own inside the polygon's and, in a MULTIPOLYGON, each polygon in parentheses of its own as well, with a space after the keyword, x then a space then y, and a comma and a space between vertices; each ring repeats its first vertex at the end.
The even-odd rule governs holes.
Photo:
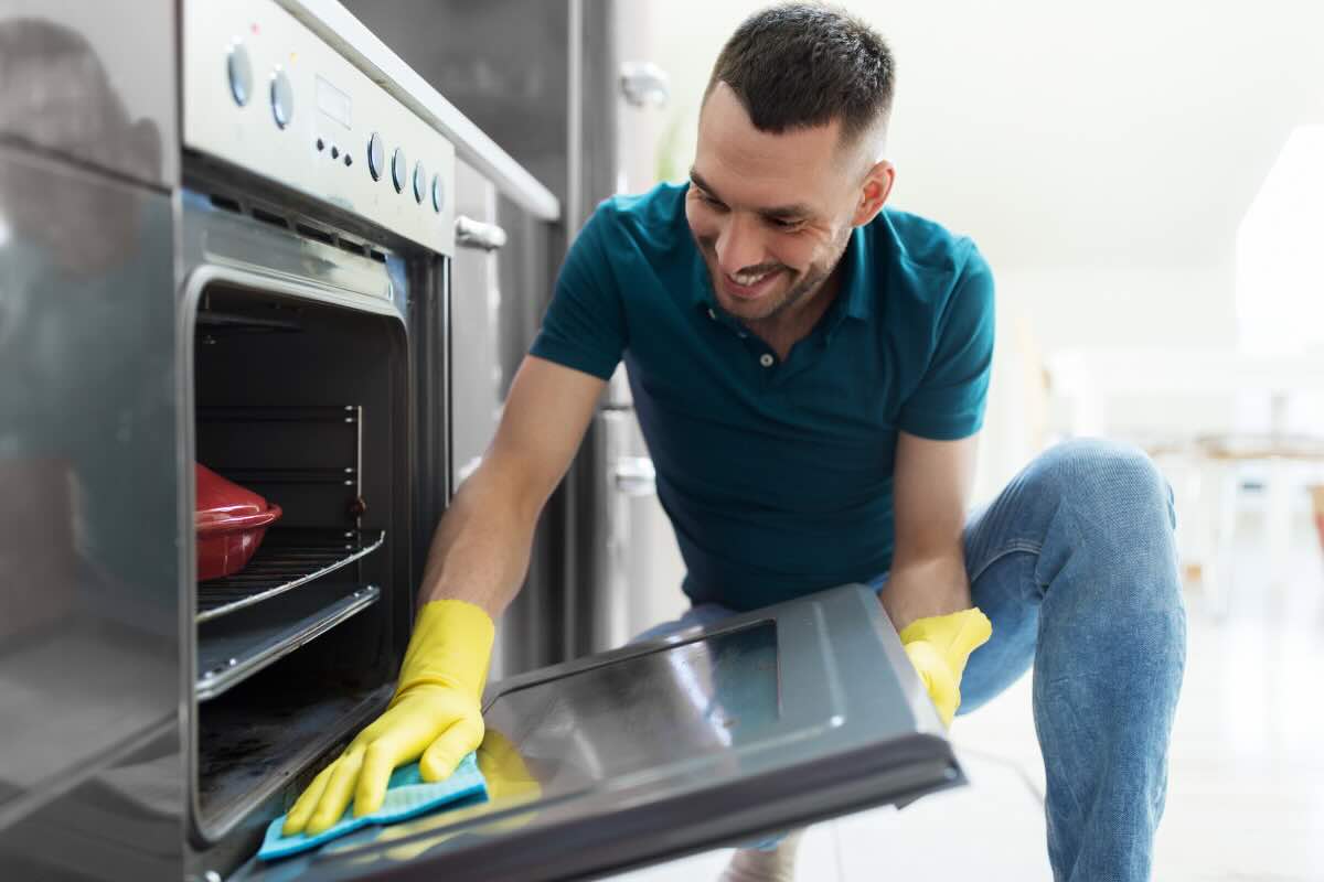
POLYGON ((197 701, 211 701, 314 637, 372 606, 375 584, 318 583, 271 598, 261 608, 236 612, 201 629, 197 644, 197 701))

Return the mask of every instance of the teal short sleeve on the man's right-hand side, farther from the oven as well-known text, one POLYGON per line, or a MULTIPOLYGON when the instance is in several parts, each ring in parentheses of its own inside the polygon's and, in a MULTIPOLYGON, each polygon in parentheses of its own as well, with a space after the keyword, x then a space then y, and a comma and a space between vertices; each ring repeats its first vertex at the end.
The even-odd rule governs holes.
POLYGON ((982 427, 993 366, 993 272, 972 246, 939 316, 928 369, 902 405, 902 431, 957 440, 982 427))

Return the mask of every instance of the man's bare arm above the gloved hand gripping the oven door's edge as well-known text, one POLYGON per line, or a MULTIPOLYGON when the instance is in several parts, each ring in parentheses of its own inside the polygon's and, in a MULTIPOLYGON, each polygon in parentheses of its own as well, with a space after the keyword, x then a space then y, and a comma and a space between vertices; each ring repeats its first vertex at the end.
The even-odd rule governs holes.
POLYGON ((900 432, 896 440, 896 546, 882 598, 898 631, 970 607, 963 534, 977 447, 976 436, 940 442, 900 432))

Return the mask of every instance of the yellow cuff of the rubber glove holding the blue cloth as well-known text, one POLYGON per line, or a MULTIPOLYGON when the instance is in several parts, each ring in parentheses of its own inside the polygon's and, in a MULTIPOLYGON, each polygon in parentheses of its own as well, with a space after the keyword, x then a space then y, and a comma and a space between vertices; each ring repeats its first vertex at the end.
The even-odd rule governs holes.
POLYGON ((400 665, 396 701, 421 685, 457 689, 474 701, 487 684, 496 628, 482 608, 465 600, 433 600, 418 610, 413 635, 400 665))

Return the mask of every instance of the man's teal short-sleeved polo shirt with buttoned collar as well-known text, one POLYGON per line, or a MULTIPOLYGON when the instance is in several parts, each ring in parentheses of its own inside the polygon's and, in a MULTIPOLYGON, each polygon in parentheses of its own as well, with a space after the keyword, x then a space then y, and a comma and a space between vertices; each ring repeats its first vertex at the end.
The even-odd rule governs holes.
POLYGON ((624 358, 695 603, 752 610, 887 571, 896 432, 982 423, 993 278, 967 238, 884 210, 785 361, 718 308, 688 185, 602 202, 531 353, 608 380, 624 358))

